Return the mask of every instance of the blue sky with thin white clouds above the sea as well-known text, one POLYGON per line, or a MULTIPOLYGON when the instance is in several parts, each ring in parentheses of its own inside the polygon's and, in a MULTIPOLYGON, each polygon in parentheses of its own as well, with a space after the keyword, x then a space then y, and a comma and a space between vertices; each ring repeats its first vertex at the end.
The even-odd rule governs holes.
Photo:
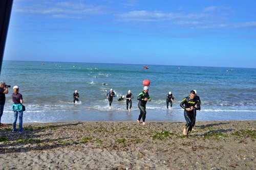
POLYGON ((4 60, 256 68, 255 5, 14 0, 4 60))

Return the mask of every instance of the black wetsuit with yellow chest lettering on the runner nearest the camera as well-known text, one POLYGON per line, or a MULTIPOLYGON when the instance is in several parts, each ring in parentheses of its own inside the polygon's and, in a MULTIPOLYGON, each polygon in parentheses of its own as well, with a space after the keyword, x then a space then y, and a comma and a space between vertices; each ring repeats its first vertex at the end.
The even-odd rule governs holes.
POLYGON ((186 98, 184 98, 181 101, 180 107, 182 107, 184 109, 184 117, 187 122, 185 125, 185 128, 187 129, 187 127, 188 127, 188 129, 187 129, 187 135, 188 135, 193 128, 193 124, 195 124, 194 123, 195 122, 194 111, 200 109, 200 103, 199 103, 199 100, 197 100, 197 98, 190 99, 190 96, 187 96, 186 98), (197 107, 195 108, 196 105, 197 105, 197 107), (191 111, 186 111, 186 108, 191 108, 191 106, 193 106, 194 109, 191 111))

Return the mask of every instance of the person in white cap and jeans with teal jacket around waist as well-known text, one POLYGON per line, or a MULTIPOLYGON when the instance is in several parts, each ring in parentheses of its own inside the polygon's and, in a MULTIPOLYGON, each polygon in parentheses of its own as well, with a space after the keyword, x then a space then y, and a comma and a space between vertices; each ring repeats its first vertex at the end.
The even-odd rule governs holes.
POLYGON ((12 111, 14 112, 14 119, 13 119, 13 129, 12 132, 16 132, 16 123, 17 123, 17 118, 19 119, 18 123, 18 133, 26 132, 25 130, 22 129, 22 124, 23 124, 23 98, 22 94, 19 93, 19 87, 14 86, 13 87, 13 93, 12 93, 12 111))

